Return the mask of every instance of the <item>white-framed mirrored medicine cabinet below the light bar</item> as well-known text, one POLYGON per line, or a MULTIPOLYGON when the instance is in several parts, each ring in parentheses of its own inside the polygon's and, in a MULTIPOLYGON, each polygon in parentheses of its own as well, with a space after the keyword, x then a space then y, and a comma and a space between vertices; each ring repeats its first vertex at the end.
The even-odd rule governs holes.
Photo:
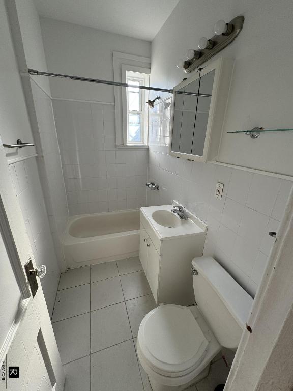
POLYGON ((232 67, 221 57, 174 87, 170 155, 216 160, 232 67))

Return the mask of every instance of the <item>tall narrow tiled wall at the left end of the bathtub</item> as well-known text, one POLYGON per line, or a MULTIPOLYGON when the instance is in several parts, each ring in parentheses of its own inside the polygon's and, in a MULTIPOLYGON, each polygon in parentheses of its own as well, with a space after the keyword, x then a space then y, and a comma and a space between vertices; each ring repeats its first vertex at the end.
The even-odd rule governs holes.
POLYGON ((62 242, 68 220, 68 206, 63 179, 60 150, 51 99, 32 80, 23 77, 34 140, 37 146, 38 172, 49 218, 55 253, 60 265, 64 262, 62 242))

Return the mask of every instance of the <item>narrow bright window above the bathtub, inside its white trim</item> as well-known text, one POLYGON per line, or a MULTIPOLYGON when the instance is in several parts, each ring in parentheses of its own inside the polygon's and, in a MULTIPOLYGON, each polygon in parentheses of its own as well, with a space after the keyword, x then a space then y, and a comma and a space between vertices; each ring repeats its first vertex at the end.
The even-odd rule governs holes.
POLYGON ((127 87, 126 92, 126 144, 147 144, 148 137, 148 90, 141 90, 138 86, 149 85, 149 75, 145 73, 126 71, 126 82, 133 86, 127 87))

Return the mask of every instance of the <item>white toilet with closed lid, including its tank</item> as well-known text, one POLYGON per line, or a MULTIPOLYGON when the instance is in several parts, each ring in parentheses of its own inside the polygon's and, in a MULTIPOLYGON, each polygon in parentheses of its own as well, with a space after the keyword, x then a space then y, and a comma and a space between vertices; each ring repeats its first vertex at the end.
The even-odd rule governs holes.
POLYGON ((142 320, 140 363, 153 391, 181 391, 209 372, 221 347, 236 350, 253 299, 211 257, 194 258, 195 306, 161 305, 142 320))

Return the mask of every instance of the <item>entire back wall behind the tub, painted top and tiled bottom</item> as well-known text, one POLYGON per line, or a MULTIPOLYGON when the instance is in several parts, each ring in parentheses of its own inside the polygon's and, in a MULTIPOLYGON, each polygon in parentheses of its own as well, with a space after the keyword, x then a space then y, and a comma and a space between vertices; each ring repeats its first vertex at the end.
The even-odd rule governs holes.
MULTIPOLYGON (((41 18, 41 27, 50 72, 113 80, 113 51, 151 52, 150 42, 71 23, 41 18)), ((113 87, 50 85, 70 214, 145 206, 148 152, 116 148, 113 87)))

